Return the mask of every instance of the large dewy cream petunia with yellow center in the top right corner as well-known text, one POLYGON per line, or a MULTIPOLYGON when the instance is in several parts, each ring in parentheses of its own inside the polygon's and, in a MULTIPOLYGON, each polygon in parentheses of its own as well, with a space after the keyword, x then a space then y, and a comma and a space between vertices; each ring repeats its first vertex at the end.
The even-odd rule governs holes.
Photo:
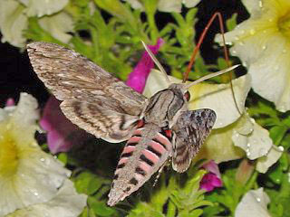
MULTIPOLYGON (((250 18, 225 34, 252 76, 257 94, 273 101, 276 109, 290 109, 290 1, 243 0, 250 18)), ((216 42, 222 42, 220 35, 216 42)))

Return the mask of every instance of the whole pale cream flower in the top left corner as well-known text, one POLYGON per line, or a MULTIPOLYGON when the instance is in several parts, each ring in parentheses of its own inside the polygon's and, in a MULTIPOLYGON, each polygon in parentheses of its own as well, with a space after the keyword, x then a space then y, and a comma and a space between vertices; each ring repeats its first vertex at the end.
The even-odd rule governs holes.
POLYGON ((68 0, 1 0, 1 42, 24 47, 24 30, 28 28, 28 18, 34 15, 41 17, 39 24, 54 38, 61 42, 69 42, 72 38, 69 33, 73 32, 73 18, 61 11, 67 3, 68 0))

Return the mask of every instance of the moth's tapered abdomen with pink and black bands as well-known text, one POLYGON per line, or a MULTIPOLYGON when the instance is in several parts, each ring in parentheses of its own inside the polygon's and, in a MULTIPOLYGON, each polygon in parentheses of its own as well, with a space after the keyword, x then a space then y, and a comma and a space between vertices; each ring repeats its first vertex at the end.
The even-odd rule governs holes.
POLYGON ((170 135, 152 124, 137 128, 123 149, 109 193, 109 205, 122 201, 156 173, 171 156, 170 135))

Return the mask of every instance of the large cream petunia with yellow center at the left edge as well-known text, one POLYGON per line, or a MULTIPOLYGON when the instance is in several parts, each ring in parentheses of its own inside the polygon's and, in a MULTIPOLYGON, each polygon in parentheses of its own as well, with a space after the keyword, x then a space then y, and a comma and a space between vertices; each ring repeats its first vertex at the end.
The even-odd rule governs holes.
POLYGON ((51 200, 71 172, 42 151, 36 100, 21 93, 17 106, 0 109, 0 216, 51 200))

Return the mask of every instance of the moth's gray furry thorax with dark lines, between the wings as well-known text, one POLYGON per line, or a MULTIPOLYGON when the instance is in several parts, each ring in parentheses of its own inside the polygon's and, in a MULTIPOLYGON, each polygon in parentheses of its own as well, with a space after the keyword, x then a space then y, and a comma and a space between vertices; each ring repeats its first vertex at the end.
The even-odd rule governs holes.
POLYGON ((188 109, 187 100, 182 90, 176 88, 160 90, 150 98, 144 112, 144 120, 160 127, 172 126, 179 112, 186 109, 188 109))

